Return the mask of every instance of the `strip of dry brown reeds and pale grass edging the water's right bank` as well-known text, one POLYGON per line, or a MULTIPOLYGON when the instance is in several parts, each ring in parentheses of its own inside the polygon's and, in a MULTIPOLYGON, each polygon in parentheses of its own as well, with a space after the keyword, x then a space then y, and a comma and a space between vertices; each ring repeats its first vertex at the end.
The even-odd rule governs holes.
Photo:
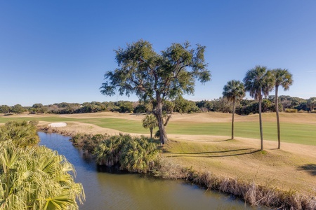
POLYGON ((316 208, 316 199, 310 195, 302 195, 294 190, 279 190, 270 185, 260 186, 254 181, 216 176, 211 172, 197 172, 192 168, 175 165, 166 158, 162 159, 154 173, 164 179, 186 179, 206 190, 235 195, 251 206, 305 210, 316 208))

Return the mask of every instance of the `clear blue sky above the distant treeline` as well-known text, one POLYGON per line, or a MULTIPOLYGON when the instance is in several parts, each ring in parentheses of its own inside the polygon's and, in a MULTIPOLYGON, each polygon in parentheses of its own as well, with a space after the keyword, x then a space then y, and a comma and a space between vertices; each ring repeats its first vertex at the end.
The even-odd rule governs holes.
MULTIPOLYGON (((212 80, 186 99, 215 99, 256 65, 289 69, 293 97, 316 97, 316 1, 0 1, 0 105, 136 101, 99 87, 114 51, 143 38, 206 46, 212 80)), ((274 94, 274 92, 271 92, 274 94)))

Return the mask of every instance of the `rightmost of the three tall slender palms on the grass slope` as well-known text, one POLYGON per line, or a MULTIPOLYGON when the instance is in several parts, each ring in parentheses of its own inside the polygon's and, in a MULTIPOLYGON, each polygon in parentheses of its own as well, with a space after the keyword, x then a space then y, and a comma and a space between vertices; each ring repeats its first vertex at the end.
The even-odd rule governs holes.
POLYGON ((287 69, 274 69, 272 70, 275 78, 275 112, 277 113, 277 148, 281 148, 281 136, 279 131, 279 99, 277 93, 279 85, 285 90, 289 90, 289 86, 293 84, 292 74, 287 69))

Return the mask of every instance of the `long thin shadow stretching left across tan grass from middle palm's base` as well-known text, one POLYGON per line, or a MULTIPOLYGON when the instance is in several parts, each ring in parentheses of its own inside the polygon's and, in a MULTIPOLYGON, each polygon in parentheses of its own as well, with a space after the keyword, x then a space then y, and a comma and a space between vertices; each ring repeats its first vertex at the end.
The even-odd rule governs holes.
POLYGON ((195 157, 195 158, 218 158, 218 157, 230 157, 230 156, 237 156, 237 155, 248 155, 259 152, 261 150, 256 150, 254 148, 244 148, 238 150, 231 150, 231 151, 213 151, 213 152, 203 152, 203 153, 169 153, 166 154, 174 154, 166 156, 166 158, 176 158, 176 157, 195 157), (244 152, 242 152, 244 151, 244 152), (235 153, 238 152, 238 153, 235 153), (226 154, 232 153, 232 154, 226 154), (201 155, 201 154, 210 154, 210 155, 201 155), (218 155, 211 155, 211 154, 218 154, 218 155))

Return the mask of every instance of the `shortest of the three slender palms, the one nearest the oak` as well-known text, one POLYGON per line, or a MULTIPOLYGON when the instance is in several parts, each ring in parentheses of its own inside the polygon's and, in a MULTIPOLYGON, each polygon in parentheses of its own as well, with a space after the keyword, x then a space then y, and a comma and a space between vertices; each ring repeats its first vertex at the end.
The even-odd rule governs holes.
POLYGON ((234 116, 235 116, 235 103, 244 98, 244 84, 239 80, 230 80, 224 86, 223 97, 232 102, 232 139, 234 139, 234 116))

